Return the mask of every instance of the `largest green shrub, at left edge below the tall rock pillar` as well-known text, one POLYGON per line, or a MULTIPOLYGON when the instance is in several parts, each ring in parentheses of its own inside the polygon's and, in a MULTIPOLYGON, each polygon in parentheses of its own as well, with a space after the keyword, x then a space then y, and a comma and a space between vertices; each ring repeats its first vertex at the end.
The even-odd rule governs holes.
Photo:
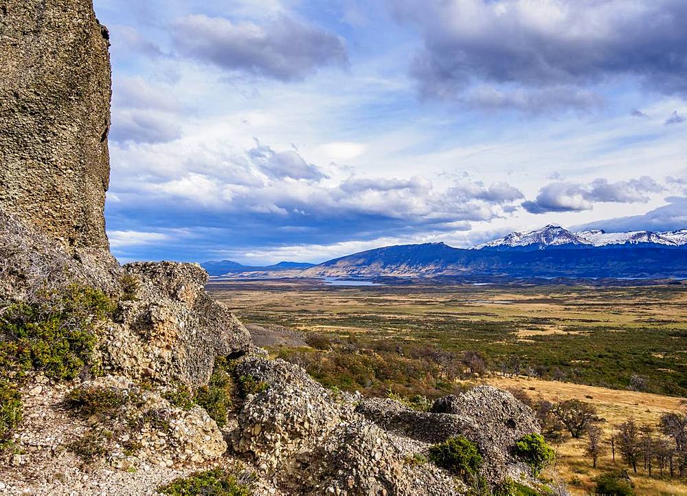
POLYGON ((91 365, 95 327, 111 311, 102 291, 76 284, 8 306, 0 317, 0 372, 19 379, 36 370, 74 379, 91 365))

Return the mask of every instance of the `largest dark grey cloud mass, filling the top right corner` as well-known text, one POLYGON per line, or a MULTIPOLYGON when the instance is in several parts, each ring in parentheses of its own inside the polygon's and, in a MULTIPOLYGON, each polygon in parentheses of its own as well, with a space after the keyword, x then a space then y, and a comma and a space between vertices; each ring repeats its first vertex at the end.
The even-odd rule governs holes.
POLYGON ((396 19, 422 33, 411 74, 427 98, 579 108, 600 101, 590 87, 621 78, 687 95, 682 0, 388 3, 396 19), (469 94, 481 84, 495 89, 469 94))

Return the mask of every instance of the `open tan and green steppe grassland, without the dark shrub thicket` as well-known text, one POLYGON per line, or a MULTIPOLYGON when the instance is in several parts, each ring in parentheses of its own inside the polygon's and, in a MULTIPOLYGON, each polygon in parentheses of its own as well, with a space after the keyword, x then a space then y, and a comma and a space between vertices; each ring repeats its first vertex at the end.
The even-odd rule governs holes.
MULTIPOLYGON (((519 357, 523 371, 537 363, 545 364, 546 370, 559 369, 567 375, 563 381, 498 373, 486 374, 479 381, 520 388, 534 400, 576 398, 593 403, 605 419, 602 426, 607 434, 627 418, 656 425, 661 414, 680 408, 681 398, 674 392, 674 396, 666 396, 627 387, 629 377, 637 373, 646 376, 651 383, 647 387, 657 392, 666 392, 666 381, 687 377, 686 289, 672 285, 346 288, 297 280, 210 284, 215 297, 245 322, 280 324, 300 330, 306 337, 352 340, 361 354, 370 350, 374 354, 385 342, 431 344, 454 352, 480 350, 492 369, 498 369, 499 361, 507 361, 508 356, 519 357), (572 374, 574 370, 578 372, 572 374), (589 385, 599 383, 615 389, 589 385)), ((297 353, 334 352, 271 351, 287 359, 297 353)), ((340 386, 369 394, 379 394, 385 387, 413 392, 413 384, 402 383, 398 377, 380 381, 381 387, 376 389, 354 381, 340 386)), ((437 390, 437 394, 446 392, 449 390, 437 390)), ((624 468, 620 456, 613 464, 608 454, 593 469, 584 449, 585 440, 570 436, 556 446, 554 470, 578 495, 593 490, 596 475, 624 468)), ((633 475, 633 482, 638 494, 687 495, 684 484, 649 478, 642 470, 633 475)))

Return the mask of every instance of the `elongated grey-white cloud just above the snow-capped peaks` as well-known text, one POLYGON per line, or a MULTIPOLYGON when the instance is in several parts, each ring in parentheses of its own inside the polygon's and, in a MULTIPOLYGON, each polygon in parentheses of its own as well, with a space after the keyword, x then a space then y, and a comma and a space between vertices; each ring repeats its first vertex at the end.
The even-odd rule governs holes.
POLYGON ((534 201, 522 206, 530 214, 548 212, 582 212, 592 210, 594 203, 646 203, 649 193, 659 193, 665 188, 651 177, 643 176, 629 181, 609 183, 607 179, 595 179, 581 184, 558 182, 545 185, 534 201))

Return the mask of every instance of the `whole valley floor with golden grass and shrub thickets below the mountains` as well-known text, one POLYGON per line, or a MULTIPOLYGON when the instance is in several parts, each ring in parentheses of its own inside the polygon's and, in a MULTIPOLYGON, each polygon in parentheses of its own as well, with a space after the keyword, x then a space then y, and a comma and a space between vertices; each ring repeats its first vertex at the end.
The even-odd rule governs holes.
MULTIPOLYGON (((450 394, 474 383, 462 353, 484 357, 481 379, 533 400, 593 403, 609 433, 635 418, 655 426, 687 396, 687 286, 328 286, 304 280, 215 282, 260 346, 329 387, 365 395, 450 394), (295 331, 295 333, 293 332, 295 331), (468 375, 468 376, 466 376, 468 375)), ((584 455, 564 436, 554 470, 575 494, 620 457, 584 455)), ((551 472, 550 476, 552 476, 551 472)), ((685 494, 678 480, 630 474, 638 494, 685 494)))

